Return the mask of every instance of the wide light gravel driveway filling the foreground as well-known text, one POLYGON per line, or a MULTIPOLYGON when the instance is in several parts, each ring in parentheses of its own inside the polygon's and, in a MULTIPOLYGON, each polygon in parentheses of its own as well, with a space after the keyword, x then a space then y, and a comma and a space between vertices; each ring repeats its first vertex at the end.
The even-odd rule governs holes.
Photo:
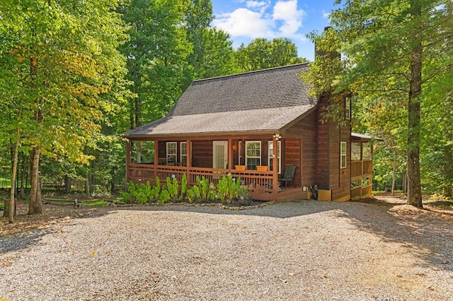
POLYGON ((297 201, 99 209, 0 237, 0 300, 453 300, 453 216, 297 201))

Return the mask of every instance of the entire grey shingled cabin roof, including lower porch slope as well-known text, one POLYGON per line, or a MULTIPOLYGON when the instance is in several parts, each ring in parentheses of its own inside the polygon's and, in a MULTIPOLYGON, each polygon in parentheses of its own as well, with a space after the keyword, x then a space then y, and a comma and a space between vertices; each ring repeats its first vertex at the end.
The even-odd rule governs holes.
POLYGON ((163 119, 125 137, 281 131, 316 105, 300 74, 306 64, 194 81, 163 119))

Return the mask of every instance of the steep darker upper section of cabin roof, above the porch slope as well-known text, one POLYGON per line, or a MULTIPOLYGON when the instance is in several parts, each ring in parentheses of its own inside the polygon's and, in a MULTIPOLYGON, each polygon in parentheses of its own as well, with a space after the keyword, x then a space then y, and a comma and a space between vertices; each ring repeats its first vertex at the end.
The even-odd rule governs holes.
POLYGON ((313 105, 299 75, 307 64, 263 69, 232 76, 194 81, 180 97, 172 114, 206 114, 237 110, 313 105))

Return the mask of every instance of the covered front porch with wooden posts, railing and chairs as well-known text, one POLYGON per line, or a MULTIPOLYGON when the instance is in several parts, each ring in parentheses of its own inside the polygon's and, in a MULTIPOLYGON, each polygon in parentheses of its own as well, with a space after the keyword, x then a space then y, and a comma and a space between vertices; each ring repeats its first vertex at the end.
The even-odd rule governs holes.
POLYGON ((224 175, 231 174, 249 187, 255 200, 304 199, 307 191, 302 191, 297 172, 294 185, 289 182, 285 187, 279 181, 285 165, 300 168, 300 149, 300 140, 282 139, 279 134, 223 139, 207 136, 184 140, 178 137, 130 139, 126 148, 126 179, 127 182, 154 184, 156 177, 164 183, 167 177, 176 177, 180 181, 185 174, 192 186, 197 177, 205 177, 217 184, 224 175), (298 146, 295 148, 298 154, 293 153, 294 145, 298 146), (286 151, 288 148, 285 146, 291 151, 286 151))

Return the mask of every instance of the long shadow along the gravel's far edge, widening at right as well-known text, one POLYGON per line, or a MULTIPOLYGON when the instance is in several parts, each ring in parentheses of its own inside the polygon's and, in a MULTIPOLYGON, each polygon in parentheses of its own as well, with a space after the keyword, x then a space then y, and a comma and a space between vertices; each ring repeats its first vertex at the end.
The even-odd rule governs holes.
POLYGON ((377 235, 384 242, 395 242, 407 252, 435 269, 453 271, 453 218, 450 213, 422 210, 401 203, 376 199, 345 203, 294 201, 270 203, 256 208, 220 208, 219 206, 173 205, 118 208, 119 210, 177 211, 205 214, 293 218, 332 211, 332 218, 348 218, 360 230, 377 235), (277 208, 275 208, 277 206, 277 208))

